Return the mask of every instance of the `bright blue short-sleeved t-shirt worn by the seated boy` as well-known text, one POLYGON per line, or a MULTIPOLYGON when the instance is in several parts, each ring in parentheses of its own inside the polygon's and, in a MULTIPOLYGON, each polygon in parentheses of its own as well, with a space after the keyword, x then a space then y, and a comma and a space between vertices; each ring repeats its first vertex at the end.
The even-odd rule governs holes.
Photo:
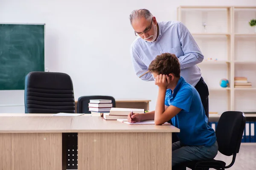
POLYGON ((208 118, 200 95, 183 77, 180 77, 173 93, 171 89, 167 89, 165 105, 182 109, 168 121, 172 121, 172 124, 180 129, 177 136, 182 144, 212 146, 215 143, 215 131, 207 125, 208 118))

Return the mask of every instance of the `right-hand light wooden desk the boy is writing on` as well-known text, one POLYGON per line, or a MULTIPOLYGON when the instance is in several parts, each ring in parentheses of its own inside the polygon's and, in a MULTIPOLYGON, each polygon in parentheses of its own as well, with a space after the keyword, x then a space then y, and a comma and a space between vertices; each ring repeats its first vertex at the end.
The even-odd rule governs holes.
POLYGON ((79 170, 170 170, 172 125, 128 125, 102 117, 73 118, 79 170))

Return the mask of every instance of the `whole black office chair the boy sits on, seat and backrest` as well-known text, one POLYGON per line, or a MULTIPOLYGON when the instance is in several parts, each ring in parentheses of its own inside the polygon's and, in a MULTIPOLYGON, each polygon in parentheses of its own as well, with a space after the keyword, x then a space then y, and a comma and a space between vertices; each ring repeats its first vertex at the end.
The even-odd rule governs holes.
POLYGON ((218 151, 225 156, 233 155, 232 162, 229 165, 226 166, 224 161, 215 159, 207 161, 188 161, 180 165, 186 166, 192 170, 207 170, 209 168, 224 170, 230 168, 235 163, 236 154, 239 153, 245 121, 244 113, 240 111, 226 111, 222 113, 218 121, 215 131, 218 151))

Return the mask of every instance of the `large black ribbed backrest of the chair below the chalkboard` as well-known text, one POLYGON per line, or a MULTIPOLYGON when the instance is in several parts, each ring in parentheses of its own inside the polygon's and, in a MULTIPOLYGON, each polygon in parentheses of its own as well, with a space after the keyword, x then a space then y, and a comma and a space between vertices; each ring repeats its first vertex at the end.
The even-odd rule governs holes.
POLYGON ((73 82, 69 75, 33 71, 25 78, 25 113, 75 113, 73 82))

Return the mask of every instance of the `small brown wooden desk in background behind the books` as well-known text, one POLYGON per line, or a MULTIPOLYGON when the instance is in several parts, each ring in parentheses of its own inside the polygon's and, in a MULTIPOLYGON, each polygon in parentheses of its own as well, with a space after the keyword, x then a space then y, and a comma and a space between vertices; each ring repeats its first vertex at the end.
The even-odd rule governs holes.
MULTIPOLYGON (((116 99, 116 108, 137 108, 149 110, 149 102, 147 99, 116 99)), ((77 108, 77 101, 76 108, 77 108)))

